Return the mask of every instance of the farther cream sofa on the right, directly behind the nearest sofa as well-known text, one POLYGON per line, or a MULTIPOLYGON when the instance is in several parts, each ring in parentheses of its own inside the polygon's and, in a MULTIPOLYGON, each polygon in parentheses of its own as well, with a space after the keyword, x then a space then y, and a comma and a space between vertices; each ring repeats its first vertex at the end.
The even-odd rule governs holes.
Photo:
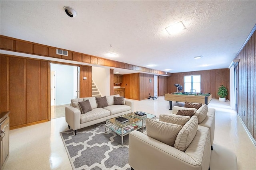
MULTIPOLYGON (((202 105, 198 110, 195 110, 195 114, 198 116, 198 125, 208 127, 210 129, 210 137, 211 137, 211 149, 213 150, 213 140, 214 140, 214 131, 215 131, 215 109, 208 108, 207 105, 202 105), (204 107, 204 109, 202 109, 204 107), (202 113, 202 112, 206 113, 202 113), (202 113, 202 114, 200 114, 202 113)), ((172 113, 177 114, 179 109, 191 109, 187 107, 174 106, 172 108, 172 113)))

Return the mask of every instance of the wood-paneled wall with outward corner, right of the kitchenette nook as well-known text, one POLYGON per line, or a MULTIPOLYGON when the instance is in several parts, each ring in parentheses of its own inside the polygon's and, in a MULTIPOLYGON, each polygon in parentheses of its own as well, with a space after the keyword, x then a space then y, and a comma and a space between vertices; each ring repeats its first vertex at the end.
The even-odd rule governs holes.
POLYGON ((154 75, 144 73, 124 74, 121 87, 125 88, 125 97, 135 100, 154 96, 154 75), (151 83, 149 80, 151 79, 151 83))

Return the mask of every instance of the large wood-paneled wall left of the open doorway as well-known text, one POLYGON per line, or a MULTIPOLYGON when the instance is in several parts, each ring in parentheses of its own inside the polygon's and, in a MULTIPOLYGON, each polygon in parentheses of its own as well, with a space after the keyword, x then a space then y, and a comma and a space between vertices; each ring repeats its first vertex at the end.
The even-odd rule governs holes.
POLYGON ((11 111, 11 129, 50 120, 49 62, 0 56, 0 111, 11 111))

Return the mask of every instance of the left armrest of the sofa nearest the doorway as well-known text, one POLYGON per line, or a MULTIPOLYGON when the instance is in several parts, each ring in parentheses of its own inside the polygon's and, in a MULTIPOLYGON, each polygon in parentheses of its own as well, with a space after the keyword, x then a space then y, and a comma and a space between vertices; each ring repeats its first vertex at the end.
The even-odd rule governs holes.
POLYGON ((80 115, 80 110, 76 109, 75 107, 65 107, 66 122, 73 130, 80 129, 80 115))

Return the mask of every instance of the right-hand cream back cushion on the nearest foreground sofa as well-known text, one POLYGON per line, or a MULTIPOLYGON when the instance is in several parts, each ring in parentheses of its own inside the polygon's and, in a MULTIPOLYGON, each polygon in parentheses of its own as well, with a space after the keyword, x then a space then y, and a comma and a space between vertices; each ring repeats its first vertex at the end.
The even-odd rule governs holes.
POLYGON ((179 131, 174 143, 174 148, 184 152, 196 136, 197 128, 198 119, 196 116, 192 116, 179 131))

